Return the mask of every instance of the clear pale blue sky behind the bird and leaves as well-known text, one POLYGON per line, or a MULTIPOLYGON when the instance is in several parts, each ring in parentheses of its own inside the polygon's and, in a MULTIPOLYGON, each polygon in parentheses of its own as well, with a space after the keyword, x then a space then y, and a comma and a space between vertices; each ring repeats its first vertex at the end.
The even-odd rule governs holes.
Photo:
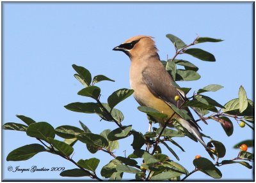
MULTIPOLYGON (((112 48, 131 36, 145 34, 154 36, 159 55, 165 60, 175 50, 166 34, 174 34, 185 43, 191 43, 196 36, 221 38, 220 43, 204 43, 196 46, 211 52, 216 62, 199 61, 189 55, 180 58, 198 66, 201 79, 193 82, 179 82, 192 91, 209 84, 223 85, 210 96, 221 104, 237 98, 239 86, 246 89, 248 98, 253 98, 253 3, 2 3, 2 68, 3 68, 3 110, 2 122, 20 122, 16 114, 26 115, 35 121, 49 122, 54 128, 61 125, 79 127, 84 122, 93 133, 104 129, 115 129, 116 124, 100 121, 97 115, 70 112, 63 106, 68 103, 91 101, 78 96, 83 86, 73 77, 72 64, 84 66, 92 75, 106 75, 115 82, 102 82, 102 102, 117 89, 129 88, 129 58, 112 48)), ((191 93, 190 93, 191 94, 191 93)), ((123 124, 145 133, 147 117, 137 110, 138 103, 130 97, 116 108, 122 110, 123 124)), ((200 123, 203 133, 225 144, 225 159, 237 156, 233 145, 252 138, 247 126, 239 128, 236 121, 234 134, 228 137, 220 124, 209 121, 200 123)), ((10 180, 66 180, 60 172, 8 172, 8 166, 20 168, 65 167, 76 168, 61 157, 42 152, 28 161, 6 161, 8 153, 17 147, 37 143, 25 133, 2 131, 3 179, 10 180), (15 178, 14 178, 15 177, 15 178)), ((61 139, 61 138, 60 138, 61 139)), ((193 158, 200 154, 209 158, 200 143, 189 138, 175 139, 186 152, 173 149, 179 154, 180 164, 189 172, 195 168, 193 158)), ((207 141, 208 139, 205 139, 207 141)), ((120 140, 117 156, 131 154, 132 137, 120 140)), ((82 143, 74 146, 74 159, 97 157, 100 168, 111 156, 104 152, 90 154, 82 143)), ((164 148, 162 148, 164 149, 164 148)), ((252 149, 248 149, 252 152, 252 149)), ((166 152, 170 154, 170 152, 166 152)), ((170 154, 171 159, 173 158, 170 154)), ((253 171, 241 165, 221 166, 223 180, 252 179, 253 171), (234 173, 238 172, 238 173, 234 173)), ((86 177, 85 177, 86 178, 86 177)), ((134 175, 126 174, 125 179, 134 175)), ((77 178, 83 180, 84 178, 77 178)), ((88 180, 90 180, 88 178, 88 180)), ((196 172, 188 180, 213 180, 204 173, 196 172)))

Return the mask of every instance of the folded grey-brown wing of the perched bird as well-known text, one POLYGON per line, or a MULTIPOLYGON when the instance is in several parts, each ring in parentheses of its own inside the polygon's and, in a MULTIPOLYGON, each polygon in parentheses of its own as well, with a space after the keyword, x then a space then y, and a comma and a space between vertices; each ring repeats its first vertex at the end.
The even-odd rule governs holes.
MULTIPOLYGON (((173 78, 165 70, 161 62, 159 62, 159 64, 154 64, 154 66, 156 67, 148 67, 142 71, 143 82, 145 82, 150 92, 152 92, 152 94, 154 94, 156 97, 162 99, 168 105, 172 103, 173 105, 177 106, 177 101, 175 101, 174 98, 180 94, 171 84, 171 82, 173 82, 173 78)), ((188 115, 193 119, 190 121, 190 123, 193 124, 193 126, 196 128, 201 129, 200 126, 198 126, 198 124, 195 122, 195 119, 193 118, 192 113, 189 111, 189 108, 186 107, 182 109, 187 110, 188 115)))

